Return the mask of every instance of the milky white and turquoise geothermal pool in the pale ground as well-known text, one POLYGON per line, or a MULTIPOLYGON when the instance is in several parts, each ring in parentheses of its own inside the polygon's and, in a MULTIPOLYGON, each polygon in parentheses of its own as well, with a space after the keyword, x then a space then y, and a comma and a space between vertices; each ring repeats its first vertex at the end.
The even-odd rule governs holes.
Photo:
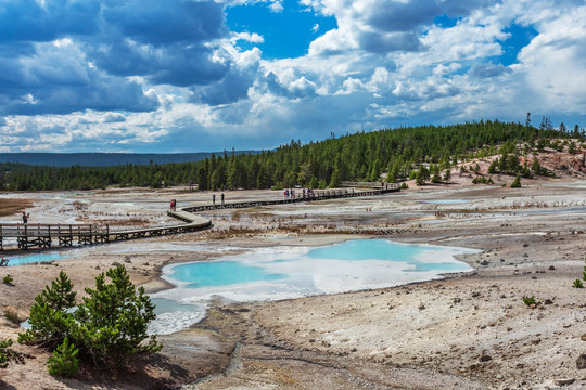
POLYGON ((353 239, 323 247, 256 248, 218 260, 173 264, 163 278, 176 287, 152 295, 150 332, 168 334, 203 318, 213 299, 244 302, 301 298, 429 281, 472 268, 454 258, 475 249, 353 239))

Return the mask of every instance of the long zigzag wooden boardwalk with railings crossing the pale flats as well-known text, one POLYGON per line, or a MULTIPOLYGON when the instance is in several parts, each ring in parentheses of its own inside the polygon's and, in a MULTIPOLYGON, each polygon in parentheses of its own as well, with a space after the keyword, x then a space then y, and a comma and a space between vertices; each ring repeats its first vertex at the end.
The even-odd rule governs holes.
POLYGON ((212 226, 212 221, 195 213, 218 209, 239 209, 259 206, 288 205, 358 196, 374 196, 399 191, 398 185, 388 185, 380 190, 317 190, 310 194, 276 200, 253 200, 226 203, 218 205, 186 207, 179 211, 167 211, 169 217, 184 223, 177 225, 154 226, 132 230, 113 230, 109 225, 97 224, 23 224, 0 223, 0 250, 4 250, 4 239, 16 238, 18 249, 71 247, 78 245, 105 244, 118 240, 162 236, 187 232, 196 232, 212 226))

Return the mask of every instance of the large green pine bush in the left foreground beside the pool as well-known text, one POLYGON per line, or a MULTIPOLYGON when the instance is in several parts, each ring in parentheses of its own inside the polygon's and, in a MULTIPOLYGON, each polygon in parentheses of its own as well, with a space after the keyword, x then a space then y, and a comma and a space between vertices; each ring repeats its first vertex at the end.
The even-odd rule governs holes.
POLYGON ((154 304, 144 288, 137 291, 123 265, 100 274, 95 289, 86 288, 86 292, 77 311, 68 311, 75 304, 75 292, 67 275, 61 272, 51 288, 46 287, 35 298, 30 329, 18 335, 18 342, 42 343, 52 350, 67 338, 79 348, 80 355, 105 367, 124 365, 133 355, 161 350, 156 336, 143 342, 149 338, 149 322, 156 317, 154 304), (111 283, 106 283, 106 276, 111 283))

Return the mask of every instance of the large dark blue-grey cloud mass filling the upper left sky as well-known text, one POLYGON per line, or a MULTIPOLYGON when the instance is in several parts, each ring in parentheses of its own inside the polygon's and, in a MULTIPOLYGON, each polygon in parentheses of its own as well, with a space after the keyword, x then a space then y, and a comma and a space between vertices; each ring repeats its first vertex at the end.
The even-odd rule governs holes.
POLYGON ((228 36, 224 17, 214 1, 2 1, 0 113, 156 109, 144 82, 226 76, 232 58, 214 43, 228 36))

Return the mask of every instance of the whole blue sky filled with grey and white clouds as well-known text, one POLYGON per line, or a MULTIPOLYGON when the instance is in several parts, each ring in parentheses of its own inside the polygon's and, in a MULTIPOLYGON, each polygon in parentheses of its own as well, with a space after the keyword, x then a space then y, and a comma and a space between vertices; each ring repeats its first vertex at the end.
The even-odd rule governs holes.
POLYGON ((0 0, 0 152, 586 126, 584 0, 0 0))

